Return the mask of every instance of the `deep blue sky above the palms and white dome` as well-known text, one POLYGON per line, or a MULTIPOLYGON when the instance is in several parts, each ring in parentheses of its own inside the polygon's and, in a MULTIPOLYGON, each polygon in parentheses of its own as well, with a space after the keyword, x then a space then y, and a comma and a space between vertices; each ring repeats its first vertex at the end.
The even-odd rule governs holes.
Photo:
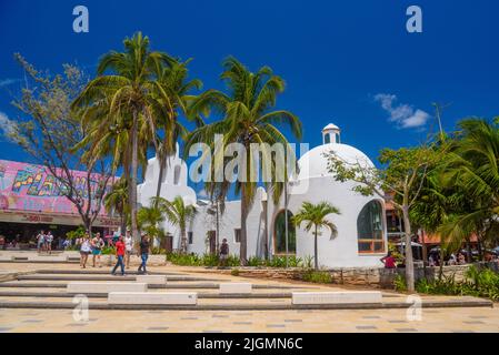
MULTIPOLYGON (((76 62, 92 74, 102 53, 141 30, 153 49, 193 58, 204 89, 222 88, 229 54, 252 70, 270 65, 287 81, 278 105, 302 120, 305 142, 320 144, 333 122, 345 143, 375 160, 385 146, 425 140, 431 102, 451 103, 447 130, 466 116, 499 115, 498 17, 497 0, 0 0, 0 119, 18 116, 14 52, 51 72, 76 62), (78 4, 89 9, 89 33, 72 31, 78 4), (406 30, 411 4, 423 11, 422 33, 406 30)), ((29 161, 1 144, 0 159, 29 161)))

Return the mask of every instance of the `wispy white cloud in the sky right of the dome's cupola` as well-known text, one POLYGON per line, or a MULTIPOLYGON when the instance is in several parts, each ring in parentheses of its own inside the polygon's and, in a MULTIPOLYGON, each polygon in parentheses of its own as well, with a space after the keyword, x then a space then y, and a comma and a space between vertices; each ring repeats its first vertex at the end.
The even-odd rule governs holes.
POLYGON ((388 120, 402 129, 420 128, 430 119, 430 115, 422 110, 415 110, 406 103, 397 104, 397 95, 393 94, 379 93, 375 95, 375 101, 379 102, 381 108, 390 114, 388 120))

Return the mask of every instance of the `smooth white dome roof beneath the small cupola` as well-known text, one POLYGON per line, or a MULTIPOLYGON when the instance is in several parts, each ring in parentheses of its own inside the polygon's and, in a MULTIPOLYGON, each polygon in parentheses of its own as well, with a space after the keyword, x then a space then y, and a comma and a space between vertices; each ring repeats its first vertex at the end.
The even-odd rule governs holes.
POLYGON ((299 174, 297 180, 310 178, 332 176, 328 172, 328 160, 325 154, 335 152, 338 158, 350 164, 361 164, 365 168, 373 168, 371 160, 357 148, 348 144, 330 143, 316 146, 308 151, 298 161, 299 174))

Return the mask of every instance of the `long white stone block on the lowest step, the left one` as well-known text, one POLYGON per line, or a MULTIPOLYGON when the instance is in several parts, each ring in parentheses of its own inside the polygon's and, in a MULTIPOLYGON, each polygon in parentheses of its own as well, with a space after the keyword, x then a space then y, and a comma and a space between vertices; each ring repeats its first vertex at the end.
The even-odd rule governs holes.
POLYGON ((198 294, 192 292, 111 292, 109 304, 197 305, 198 294))

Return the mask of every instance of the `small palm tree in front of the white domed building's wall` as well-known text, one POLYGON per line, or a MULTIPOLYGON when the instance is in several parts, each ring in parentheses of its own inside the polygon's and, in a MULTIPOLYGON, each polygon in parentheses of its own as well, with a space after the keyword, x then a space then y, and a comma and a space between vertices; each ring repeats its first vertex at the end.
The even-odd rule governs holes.
POLYGON ((306 223, 305 230, 307 232, 310 232, 313 229, 313 257, 316 270, 319 268, 317 250, 317 237, 319 235, 319 231, 322 227, 328 227, 331 232, 331 239, 333 239, 338 234, 336 225, 326 219, 329 214, 340 214, 340 211, 329 202, 320 202, 318 204, 303 202, 303 204, 301 205, 301 210, 296 215, 293 215, 291 220, 292 223, 298 227, 302 223, 306 223))

